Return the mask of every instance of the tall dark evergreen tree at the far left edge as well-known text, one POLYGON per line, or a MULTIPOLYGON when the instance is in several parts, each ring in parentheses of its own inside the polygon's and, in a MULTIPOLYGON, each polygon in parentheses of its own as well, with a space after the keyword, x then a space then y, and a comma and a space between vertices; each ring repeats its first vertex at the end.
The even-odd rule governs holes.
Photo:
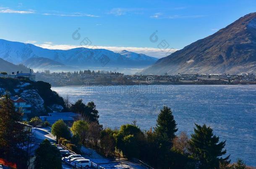
POLYGON ((15 110, 9 94, 0 98, 0 158, 15 162, 19 168, 26 166, 26 146, 28 132, 19 123, 22 113, 15 110), (25 164, 24 164, 25 163, 25 164))

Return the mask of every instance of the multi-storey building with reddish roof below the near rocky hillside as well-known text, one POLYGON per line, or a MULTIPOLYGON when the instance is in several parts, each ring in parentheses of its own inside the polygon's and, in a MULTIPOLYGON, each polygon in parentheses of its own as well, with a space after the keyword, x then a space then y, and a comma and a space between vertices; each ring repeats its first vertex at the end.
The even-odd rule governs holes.
POLYGON ((22 120, 26 121, 27 114, 31 113, 31 104, 29 104, 26 100, 18 96, 11 96, 10 99, 13 102, 16 111, 19 108, 21 108, 22 112, 24 113, 22 120))

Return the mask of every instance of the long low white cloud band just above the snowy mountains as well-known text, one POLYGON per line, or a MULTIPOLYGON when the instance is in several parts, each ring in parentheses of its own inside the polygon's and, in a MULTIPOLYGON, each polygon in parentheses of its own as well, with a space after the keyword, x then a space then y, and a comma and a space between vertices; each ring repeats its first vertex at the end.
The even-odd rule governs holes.
POLYGON ((143 53, 145 55, 154 56, 156 58, 162 58, 171 53, 175 52, 177 49, 159 49, 159 48, 150 48, 150 47, 120 47, 120 46, 81 46, 81 45, 53 45, 53 44, 35 44, 41 48, 47 49, 61 49, 61 50, 68 50, 72 48, 93 48, 93 49, 107 49, 112 50, 114 52, 119 52, 121 50, 128 50, 136 53, 143 53))

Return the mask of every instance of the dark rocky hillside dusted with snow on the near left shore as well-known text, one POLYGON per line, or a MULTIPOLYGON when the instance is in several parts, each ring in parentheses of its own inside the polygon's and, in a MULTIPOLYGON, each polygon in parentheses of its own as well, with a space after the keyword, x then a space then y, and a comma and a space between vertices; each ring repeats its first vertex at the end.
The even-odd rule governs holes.
POLYGON ((0 96, 5 92, 20 96, 31 104, 31 116, 44 115, 52 111, 65 111, 63 98, 51 90, 51 85, 43 81, 0 78, 0 96), (56 109, 57 108, 57 109, 56 109))

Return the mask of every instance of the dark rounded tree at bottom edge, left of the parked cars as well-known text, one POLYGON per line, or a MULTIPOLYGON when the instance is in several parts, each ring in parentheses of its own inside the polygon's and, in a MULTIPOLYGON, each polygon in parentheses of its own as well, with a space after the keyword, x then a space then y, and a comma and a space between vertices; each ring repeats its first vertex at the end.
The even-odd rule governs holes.
POLYGON ((60 151, 47 139, 40 144, 35 155, 35 169, 62 169, 60 151))

